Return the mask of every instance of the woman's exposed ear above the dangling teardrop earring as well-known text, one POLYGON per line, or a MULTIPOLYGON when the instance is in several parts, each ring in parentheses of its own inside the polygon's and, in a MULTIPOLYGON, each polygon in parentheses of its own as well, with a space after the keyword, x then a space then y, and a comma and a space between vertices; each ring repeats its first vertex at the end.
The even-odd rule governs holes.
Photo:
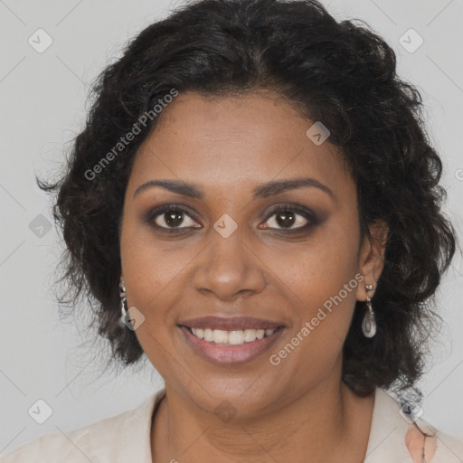
POLYGON ((364 276, 364 281, 357 288, 357 300, 366 300, 367 296, 372 298, 373 293, 366 291, 366 285, 373 285, 376 289, 376 282, 380 279, 384 268, 384 253, 386 249, 389 227, 386 222, 373 222, 368 229, 370 236, 365 235, 359 252, 358 268, 359 273, 364 276))

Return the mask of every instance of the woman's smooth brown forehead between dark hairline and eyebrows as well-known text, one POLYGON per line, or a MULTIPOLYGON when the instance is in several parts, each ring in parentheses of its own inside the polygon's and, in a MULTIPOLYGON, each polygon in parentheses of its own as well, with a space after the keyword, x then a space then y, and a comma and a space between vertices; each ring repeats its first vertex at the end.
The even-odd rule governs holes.
POLYGON ((307 137, 314 122, 269 92, 181 94, 139 147, 128 188, 169 178, 194 181, 204 190, 249 189, 275 178, 312 176, 343 194, 343 184, 352 187, 352 180, 335 146, 307 137))

